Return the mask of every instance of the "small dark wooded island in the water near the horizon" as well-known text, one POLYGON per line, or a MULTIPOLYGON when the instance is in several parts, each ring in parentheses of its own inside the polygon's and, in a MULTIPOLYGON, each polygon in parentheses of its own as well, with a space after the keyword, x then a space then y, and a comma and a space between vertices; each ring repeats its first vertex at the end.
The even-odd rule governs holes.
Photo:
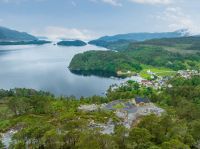
POLYGON ((57 43, 59 46, 76 46, 76 47, 81 47, 81 46, 86 46, 87 43, 81 40, 63 40, 57 43))

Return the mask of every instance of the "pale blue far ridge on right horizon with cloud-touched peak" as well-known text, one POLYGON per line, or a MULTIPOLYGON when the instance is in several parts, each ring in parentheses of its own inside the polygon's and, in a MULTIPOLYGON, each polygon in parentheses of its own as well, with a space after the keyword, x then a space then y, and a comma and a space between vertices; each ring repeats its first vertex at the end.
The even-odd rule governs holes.
POLYGON ((177 30, 174 32, 162 32, 162 33, 128 33, 128 34, 118 34, 114 36, 104 36, 99 39, 90 41, 89 44, 107 47, 108 45, 117 42, 138 42, 151 39, 177 38, 177 37, 187 37, 187 36, 190 36, 190 33, 186 29, 177 30))

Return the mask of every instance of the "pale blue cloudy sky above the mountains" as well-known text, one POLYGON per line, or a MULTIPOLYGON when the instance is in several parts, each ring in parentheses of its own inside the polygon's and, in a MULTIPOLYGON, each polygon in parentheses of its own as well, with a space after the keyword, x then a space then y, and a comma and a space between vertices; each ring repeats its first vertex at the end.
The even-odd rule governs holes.
POLYGON ((0 26, 52 39, 200 32, 200 0, 0 0, 0 26))

